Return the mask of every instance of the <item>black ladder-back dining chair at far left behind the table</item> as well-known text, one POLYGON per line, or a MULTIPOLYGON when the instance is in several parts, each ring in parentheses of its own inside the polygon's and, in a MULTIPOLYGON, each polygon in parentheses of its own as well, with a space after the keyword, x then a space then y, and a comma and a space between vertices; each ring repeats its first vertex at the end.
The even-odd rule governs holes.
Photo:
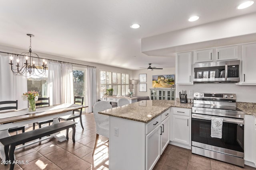
MULTIPOLYGON (((0 107, 0 110, 13 110, 13 109, 18 109, 18 100, 16 101, 2 101, 0 102, 0 106, 5 105, 5 107, 0 107)), ((15 132, 18 134, 18 131, 22 130, 22 133, 25 132, 25 126, 19 126, 19 127, 12 127, 8 129, 9 133, 10 132, 15 132)))

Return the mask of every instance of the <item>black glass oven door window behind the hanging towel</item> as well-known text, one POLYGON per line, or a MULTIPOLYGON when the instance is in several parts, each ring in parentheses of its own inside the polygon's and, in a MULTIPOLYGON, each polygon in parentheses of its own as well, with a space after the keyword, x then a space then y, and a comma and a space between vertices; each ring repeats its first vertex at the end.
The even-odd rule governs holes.
POLYGON ((222 139, 211 137, 211 121, 192 118, 192 141, 244 152, 244 125, 223 122, 222 139))

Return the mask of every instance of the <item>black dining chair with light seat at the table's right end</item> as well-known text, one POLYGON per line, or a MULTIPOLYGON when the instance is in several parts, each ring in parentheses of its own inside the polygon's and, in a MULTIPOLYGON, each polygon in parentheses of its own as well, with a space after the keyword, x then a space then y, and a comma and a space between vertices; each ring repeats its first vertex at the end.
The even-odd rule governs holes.
MULTIPOLYGON (((74 104, 81 104, 83 105, 84 102, 84 97, 81 96, 74 96, 74 104)), ((76 109, 73 110, 73 114, 72 115, 66 115, 63 117, 59 117, 60 120, 64 120, 64 121, 68 121, 68 120, 73 120, 75 121, 76 118, 80 118, 80 124, 82 129, 84 129, 83 124, 82 124, 82 109, 76 109), (79 114, 76 114, 75 112, 78 112, 79 114)))

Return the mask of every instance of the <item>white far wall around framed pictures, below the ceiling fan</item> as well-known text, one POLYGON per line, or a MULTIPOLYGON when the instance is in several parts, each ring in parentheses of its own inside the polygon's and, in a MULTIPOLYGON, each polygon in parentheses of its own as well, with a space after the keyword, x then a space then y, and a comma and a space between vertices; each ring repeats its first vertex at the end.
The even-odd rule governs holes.
POLYGON ((135 95, 136 96, 150 96, 150 88, 152 87, 152 76, 153 75, 166 75, 166 74, 175 74, 175 68, 164 68, 163 70, 134 70, 132 72, 133 79, 139 81, 139 74, 147 74, 147 92, 139 92, 139 82, 135 85, 135 95))

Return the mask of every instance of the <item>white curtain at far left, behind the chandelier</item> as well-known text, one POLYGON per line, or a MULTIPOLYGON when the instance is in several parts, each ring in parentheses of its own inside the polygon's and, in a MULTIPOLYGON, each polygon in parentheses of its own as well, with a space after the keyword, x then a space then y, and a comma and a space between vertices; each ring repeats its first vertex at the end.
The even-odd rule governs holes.
POLYGON ((8 63, 9 58, 0 55, 0 101, 18 100, 18 109, 28 108, 28 102, 21 97, 28 92, 27 77, 14 76, 8 63))

